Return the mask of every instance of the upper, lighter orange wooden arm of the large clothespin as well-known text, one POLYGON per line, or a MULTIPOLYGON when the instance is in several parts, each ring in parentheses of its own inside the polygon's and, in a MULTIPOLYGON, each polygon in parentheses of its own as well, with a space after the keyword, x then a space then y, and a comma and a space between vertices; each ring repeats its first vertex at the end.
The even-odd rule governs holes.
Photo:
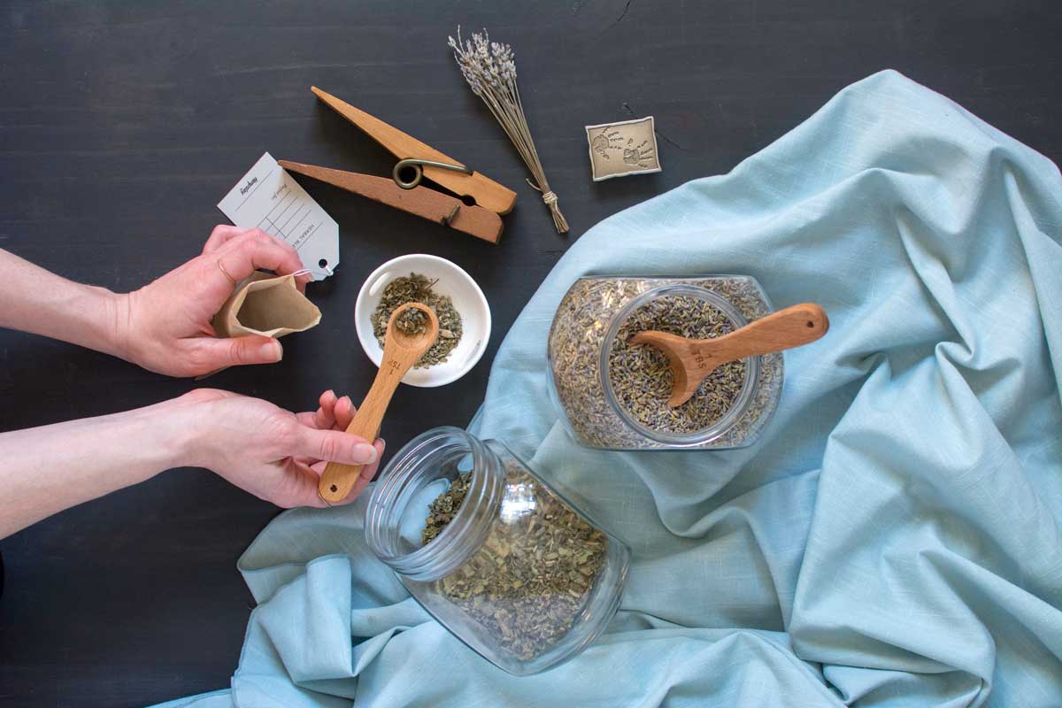
MULTIPOLYGON (((356 108, 331 93, 321 90, 316 86, 311 86, 310 90, 340 116, 360 127, 377 142, 390 150, 398 159, 413 157, 465 167, 464 162, 439 152, 431 145, 425 144, 416 138, 395 128, 393 125, 384 123, 379 118, 370 116, 364 110, 356 108)), ((425 165, 424 175, 455 194, 474 198, 478 206, 490 209, 495 213, 509 213, 513 210, 513 205, 516 204, 516 192, 504 185, 499 185, 479 172, 474 171, 472 174, 464 174, 462 172, 453 172, 452 170, 444 170, 425 165)))

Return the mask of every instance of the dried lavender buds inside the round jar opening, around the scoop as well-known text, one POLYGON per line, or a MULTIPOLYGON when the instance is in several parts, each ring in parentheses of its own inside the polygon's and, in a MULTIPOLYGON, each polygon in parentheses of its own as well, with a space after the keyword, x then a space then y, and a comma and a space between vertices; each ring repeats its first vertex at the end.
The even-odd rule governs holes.
POLYGON ((658 297, 638 308, 620 325, 609 352, 609 379, 619 404, 651 430, 684 434, 710 427, 726 415, 741 393, 744 361, 716 367, 688 401, 670 408, 667 399, 674 375, 667 356, 654 346, 628 340, 644 330, 705 340, 734 329, 719 308, 688 295, 658 297))

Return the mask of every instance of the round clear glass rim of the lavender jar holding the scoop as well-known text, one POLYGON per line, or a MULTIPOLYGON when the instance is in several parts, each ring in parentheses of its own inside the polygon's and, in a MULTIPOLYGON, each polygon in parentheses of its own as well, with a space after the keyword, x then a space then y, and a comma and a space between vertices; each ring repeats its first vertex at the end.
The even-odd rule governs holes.
POLYGON ((690 433, 675 433, 666 430, 656 430, 643 425, 633 415, 631 415, 630 412, 628 412, 622 403, 620 403, 619 397, 616 396, 616 392, 613 390, 612 377, 610 376, 610 368, 612 366, 610 355, 612 352, 613 344, 616 341, 616 336, 619 333, 619 329, 627 322, 628 317, 630 317, 631 314, 638 308, 665 296, 693 297, 706 303, 722 312, 726 320, 730 321, 730 324, 734 329, 744 327, 748 324, 744 315, 742 315, 737 308, 731 305, 730 300, 706 288, 680 283, 661 286, 660 288, 646 291, 637 297, 632 298, 619 310, 616 316, 613 317, 612 324, 605 332, 601 346, 601 361, 599 366, 601 386, 604 390, 605 399, 609 401, 609 405, 613 409, 613 411, 615 411, 624 424, 641 435, 668 447, 696 447, 710 443, 724 435, 731 428, 734 427, 746 411, 748 411, 749 405, 752 403, 753 394, 756 390, 756 382, 759 379, 759 357, 750 357, 744 360, 744 378, 741 382, 741 391, 738 393, 737 398, 734 399, 734 402, 731 404, 726 413, 724 413, 710 426, 690 433))

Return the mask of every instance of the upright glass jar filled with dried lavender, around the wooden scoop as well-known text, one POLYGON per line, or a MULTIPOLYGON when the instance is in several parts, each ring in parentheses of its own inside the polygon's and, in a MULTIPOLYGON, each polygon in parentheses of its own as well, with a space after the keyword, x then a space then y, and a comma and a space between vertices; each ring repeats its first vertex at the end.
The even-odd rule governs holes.
POLYGON ((782 353, 722 364, 686 403, 671 409, 667 357, 632 345, 641 330, 720 336, 773 312, 754 278, 580 278, 550 329, 551 393, 583 445, 610 450, 751 445, 782 395, 782 353))

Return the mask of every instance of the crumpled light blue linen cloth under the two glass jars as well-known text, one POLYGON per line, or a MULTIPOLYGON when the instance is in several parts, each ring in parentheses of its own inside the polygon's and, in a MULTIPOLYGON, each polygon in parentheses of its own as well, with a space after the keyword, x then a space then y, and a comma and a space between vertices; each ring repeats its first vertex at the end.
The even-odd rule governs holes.
POLYGON ((280 516, 232 692, 262 706, 1062 705, 1062 178, 891 71, 732 173, 576 243, 514 325, 472 429, 633 550, 610 632, 517 678, 431 621, 362 539, 367 495, 280 516), (755 276, 829 313, 744 450, 579 447, 545 343, 586 273, 755 276))

